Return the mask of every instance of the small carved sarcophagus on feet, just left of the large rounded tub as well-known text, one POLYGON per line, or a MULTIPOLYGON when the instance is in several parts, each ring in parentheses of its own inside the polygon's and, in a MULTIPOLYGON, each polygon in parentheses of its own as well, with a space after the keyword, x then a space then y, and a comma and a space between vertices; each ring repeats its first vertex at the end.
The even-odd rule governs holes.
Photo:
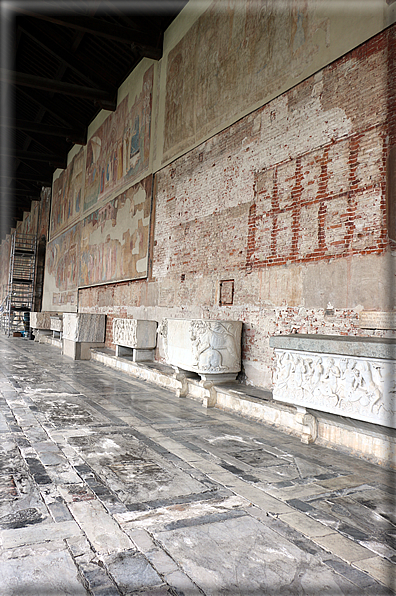
POLYGON ((113 343, 116 356, 132 356, 134 362, 154 360, 157 321, 114 319, 113 343))

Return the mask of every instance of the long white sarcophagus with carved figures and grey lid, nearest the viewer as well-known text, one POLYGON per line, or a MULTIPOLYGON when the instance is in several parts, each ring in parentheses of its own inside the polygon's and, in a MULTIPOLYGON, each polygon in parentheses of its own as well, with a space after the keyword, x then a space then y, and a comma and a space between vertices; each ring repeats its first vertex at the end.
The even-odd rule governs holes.
POLYGON ((389 338, 277 335, 274 399, 396 428, 396 342, 389 338))

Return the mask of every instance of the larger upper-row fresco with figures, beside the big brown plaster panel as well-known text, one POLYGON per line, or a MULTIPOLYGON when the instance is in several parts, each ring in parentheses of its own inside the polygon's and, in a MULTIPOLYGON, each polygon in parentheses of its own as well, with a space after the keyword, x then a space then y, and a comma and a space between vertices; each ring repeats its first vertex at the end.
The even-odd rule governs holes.
POLYGON ((125 97, 87 144, 84 211, 149 165, 154 67, 132 106, 125 97))

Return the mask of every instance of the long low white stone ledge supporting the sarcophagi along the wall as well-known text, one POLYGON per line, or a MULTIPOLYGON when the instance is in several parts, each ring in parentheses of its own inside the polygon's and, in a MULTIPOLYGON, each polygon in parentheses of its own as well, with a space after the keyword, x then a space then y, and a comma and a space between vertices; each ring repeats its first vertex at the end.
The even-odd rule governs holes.
POLYGON ((171 367, 158 362, 149 364, 116 358, 110 349, 93 349, 91 359, 171 389, 179 397, 199 400, 204 407, 217 407, 247 416, 274 426, 281 432, 298 436, 305 443, 320 444, 396 469, 396 431, 392 429, 275 402, 269 392, 266 392, 267 398, 260 399, 246 395, 237 383, 235 388, 216 386, 200 381, 198 376, 194 379, 175 374, 171 367))

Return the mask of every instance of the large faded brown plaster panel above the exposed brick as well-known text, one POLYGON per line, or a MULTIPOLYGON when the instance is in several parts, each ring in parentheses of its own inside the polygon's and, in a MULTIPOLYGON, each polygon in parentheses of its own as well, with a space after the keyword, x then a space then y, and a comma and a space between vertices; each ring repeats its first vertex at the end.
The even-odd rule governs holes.
POLYGON ((154 170, 396 20, 386 0, 190 0, 158 63, 154 170))

